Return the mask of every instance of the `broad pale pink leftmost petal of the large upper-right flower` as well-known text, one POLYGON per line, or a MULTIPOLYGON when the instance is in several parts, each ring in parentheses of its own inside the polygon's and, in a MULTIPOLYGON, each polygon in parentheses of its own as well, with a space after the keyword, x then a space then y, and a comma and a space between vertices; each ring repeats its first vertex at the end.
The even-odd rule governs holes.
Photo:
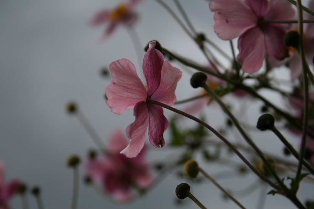
POLYGON ((257 16, 241 0, 211 0, 214 12, 214 31, 219 38, 231 40, 257 25, 257 16))

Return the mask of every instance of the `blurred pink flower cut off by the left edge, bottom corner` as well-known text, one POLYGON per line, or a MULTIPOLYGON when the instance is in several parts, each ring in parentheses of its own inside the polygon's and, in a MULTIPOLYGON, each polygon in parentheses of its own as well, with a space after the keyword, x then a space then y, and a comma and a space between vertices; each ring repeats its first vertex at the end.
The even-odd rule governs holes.
POLYGON ((3 164, 0 162, 0 209, 9 209, 8 201, 18 189, 19 181, 17 180, 4 183, 3 164))

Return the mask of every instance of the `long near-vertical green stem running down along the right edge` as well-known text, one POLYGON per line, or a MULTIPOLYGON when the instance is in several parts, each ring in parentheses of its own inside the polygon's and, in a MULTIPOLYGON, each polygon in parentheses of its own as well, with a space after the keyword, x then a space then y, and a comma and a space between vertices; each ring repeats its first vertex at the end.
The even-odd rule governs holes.
POLYGON ((297 179, 301 175, 302 164, 304 161, 305 155, 305 145, 306 145, 306 135, 307 135, 307 126, 308 126, 308 118, 309 118, 309 86, 307 80, 307 71, 306 71, 306 59, 304 54, 304 41, 303 41, 303 13, 302 13, 302 3, 301 0, 297 0, 298 7, 298 18, 299 18, 299 50, 300 50, 300 58, 302 61, 302 69, 303 69, 303 85, 304 85, 304 114, 303 114, 303 130, 302 130, 302 141, 300 147, 300 157, 299 157, 299 165, 298 170, 295 176, 297 179))

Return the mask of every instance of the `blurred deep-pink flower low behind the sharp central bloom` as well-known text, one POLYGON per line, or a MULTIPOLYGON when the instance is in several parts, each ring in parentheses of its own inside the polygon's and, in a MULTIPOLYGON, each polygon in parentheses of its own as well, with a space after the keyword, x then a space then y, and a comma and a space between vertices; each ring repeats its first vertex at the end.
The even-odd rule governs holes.
POLYGON ((149 165, 144 159, 145 149, 134 158, 120 154, 127 145, 127 138, 122 131, 116 130, 109 138, 107 155, 89 159, 85 164, 85 173, 95 183, 100 183, 106 194, 117 201, 127 201, 135 190, 147 188, 152 182, 149 165))

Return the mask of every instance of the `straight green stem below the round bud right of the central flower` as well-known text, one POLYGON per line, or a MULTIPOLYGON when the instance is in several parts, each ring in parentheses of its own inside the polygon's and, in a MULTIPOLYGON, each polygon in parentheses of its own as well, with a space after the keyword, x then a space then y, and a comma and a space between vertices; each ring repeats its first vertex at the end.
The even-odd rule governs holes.
POLYGON ((246 134, 246 132, 243 130, 243 128, 241 127, 239 121, 236 119, 236 117, 230 112, 230 110, 227 108, 227 106, 219 99, 218 95, 215 94, 215 92, 210 89, 207 85, 206 82, 202 82, 201 85, 206 91, 207 93, 219 104, 219 106, 221 107, 221 109, 224 110, 224 112, 226 113, 226 115, 228 115, 228 117, 230 118, 230 120, 232 121, 232 123, 236 126, 236 128, 239 130, 240 134, 242 135, 242 137, 246 140, 246 142, 256 151, 257 155, 262 159, 262 161, 265 163, 265 165, 268 167, 268 169, 270 170, 270 172, 272 173, 273 177, 276 179, 276 181, 279 183, 279 185, 283 188, 283 190, 287 193, 289 193, 288 188, 284 185, 284 183, 281 181, 281 179, 279 178, 279 176, 277 175, 277 173, 275 172, 275 170, 273 169, 273 167, 269 164, 268 160, 265 158, 263 152, 254 144, 254 142, 252 141, 252 139, 249 137, 249 135, 246 134))

